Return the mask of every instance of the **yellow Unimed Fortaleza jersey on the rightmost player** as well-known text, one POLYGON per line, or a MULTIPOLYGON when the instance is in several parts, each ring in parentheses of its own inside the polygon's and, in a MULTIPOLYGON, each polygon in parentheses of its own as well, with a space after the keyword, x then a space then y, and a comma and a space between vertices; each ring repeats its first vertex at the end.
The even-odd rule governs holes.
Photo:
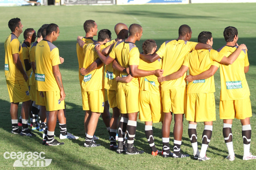
MULTIPOLYGON (((237 46, 223 46, 218 51, 229 56, 237 46)), ((246 50, 242 50, 233 64, 220 64, 220 100, 238 100, 250 96, 244 67, 249 66, 246 50)))

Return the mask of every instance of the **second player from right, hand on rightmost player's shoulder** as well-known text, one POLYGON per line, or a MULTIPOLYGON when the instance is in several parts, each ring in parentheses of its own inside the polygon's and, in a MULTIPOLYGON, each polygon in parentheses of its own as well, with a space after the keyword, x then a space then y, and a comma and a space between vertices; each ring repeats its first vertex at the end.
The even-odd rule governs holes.
MULTIPOLYGON (((207 31, 201 32, 198 35, 198 42, 212 46, 212 33, 207 31)), ((194 159, 198 159, 199 161, 210 159, 206 156, 206 150, 212 137, 212 121, 216 120, 215 98, 213 93, 215 92, 213 74, 219 68, 219 63, 217 62, 232 64, 238 57, 243 47, 246 48, 245 45, 240 45, 240 48, 229 57, 226 57, 222 53, 219 53, 213 49, 193 50, 186 55, 180 70, 168 76, 158 78, 160 82, 168 81, 182 77, 188 69, 189 74, 195 76, 204 72, 205 70, 208 70, 209 68, 213 68, 213 72, 209 74, 211 75, 209 78, 195 79, 193 82, 188 84, 187 88, 185 117, 189 123, 188 136, 194 151, 194 159), (202 147, 200 153, 197 149, 197 122, 204 122, 204 132, 202 135, 202 147)))

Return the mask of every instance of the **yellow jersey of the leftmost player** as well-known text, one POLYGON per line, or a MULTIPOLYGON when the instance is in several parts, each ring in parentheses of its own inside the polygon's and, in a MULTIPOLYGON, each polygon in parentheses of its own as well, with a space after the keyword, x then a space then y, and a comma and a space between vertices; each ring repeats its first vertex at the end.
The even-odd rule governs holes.
POLYGON ((22 66, 25 70, 23 55, 22 55, 22 48, 20 45, 20 41, 11 33, 4 42, 4 51, 5 51, 5 61, 4 61, 4 73, 6 80, 24 80, 23 75, 21 74, 20 70, 16 67, 13 61, 13 54, 19 54, 20 61, 22 66))

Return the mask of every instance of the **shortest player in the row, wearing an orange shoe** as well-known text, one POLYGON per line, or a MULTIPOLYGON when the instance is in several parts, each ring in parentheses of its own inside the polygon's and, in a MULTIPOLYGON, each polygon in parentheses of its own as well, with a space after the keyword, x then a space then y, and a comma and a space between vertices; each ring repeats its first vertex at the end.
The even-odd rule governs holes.
MULTIPOLYGON (((142 50, 146 55, 152 55, 156 52, 156 41, 146 40, 142 44, 142 50)), ((153 63, 147 63, 140 59, 139 69, 154 70, 161 69, 162 60, 158 59, 153 63)), ((127 77, 116 78, 117 81, 129 83, 132 80, 131 74, 127 77)), ((164 118, 161 85, 157 80, 157 76, 151 75, 146 77, 139 77, 140 92, 139 92, 139 110, 140 121, 145 122, 145 134, 148 139, 148 144, 151 148, 151 154, 156 156, 162 152, 156 149, 154 143, 152 123, 162 122, 164 118)))

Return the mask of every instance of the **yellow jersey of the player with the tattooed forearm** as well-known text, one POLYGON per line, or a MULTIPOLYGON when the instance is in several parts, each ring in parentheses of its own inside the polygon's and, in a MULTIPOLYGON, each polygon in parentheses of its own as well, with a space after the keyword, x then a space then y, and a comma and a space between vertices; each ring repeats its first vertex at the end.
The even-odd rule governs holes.
POLYGON ((48 40, 36 45, 36 89, 38 91, 59 91, 52 72, 52 66, 60 64, 59 49, 48 40))

